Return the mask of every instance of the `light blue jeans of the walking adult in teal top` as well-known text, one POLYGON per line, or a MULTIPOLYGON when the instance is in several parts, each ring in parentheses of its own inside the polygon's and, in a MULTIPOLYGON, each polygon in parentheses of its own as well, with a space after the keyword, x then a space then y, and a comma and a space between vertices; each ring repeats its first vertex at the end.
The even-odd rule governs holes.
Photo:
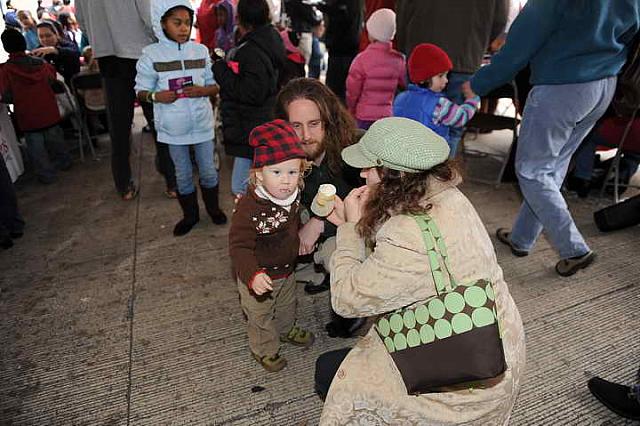
POLYGON ((527 98, 516 152, 524 202, 511 233, 521 250, 533 248, 545 230, 563 259, 589 246, 560 193, 571 156, 611 102, 616 78, 579 84, 535 86, 527 98))

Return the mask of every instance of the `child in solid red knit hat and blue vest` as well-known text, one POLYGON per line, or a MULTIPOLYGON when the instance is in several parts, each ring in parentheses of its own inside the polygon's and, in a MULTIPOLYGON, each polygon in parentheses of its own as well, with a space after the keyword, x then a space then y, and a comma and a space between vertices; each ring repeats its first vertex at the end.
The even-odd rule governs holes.
MULTIPOLYGON (((447 73, 453 68, 449 55, 435 44, 417 45, 409 56, 408 90, 393 103, 393 115, 416 120, 442 136, 449 144, 450 156, 456 153, 449 138, 450 127, 463 127, 475 114, 480 98, 471 89, 464 92, 462 105, 449 100, 442 91, 447 86, 447 73)), ((463 90, 465 90, 463 88, 463 90)))

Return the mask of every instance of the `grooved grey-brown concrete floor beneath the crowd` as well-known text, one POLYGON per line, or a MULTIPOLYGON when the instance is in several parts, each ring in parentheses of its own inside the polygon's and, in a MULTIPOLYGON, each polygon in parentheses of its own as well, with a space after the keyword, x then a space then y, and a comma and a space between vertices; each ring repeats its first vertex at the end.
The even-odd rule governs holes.
MULTIPOLYGON (((178 204, 162 194, 139 128, 134 202, 113 190, 108 142, 100 161, 76 163, 57 184, 18 184, 28 225, 0 252, 0 424, 317 424, 315 359, 353 344, 324 333, 328 295, 299 289, 300 322, 316 344, 285 347, 287 369, 265 373, 248 351, 228 227, 203 220, 173 237, 178 204)), ((225 159, 222 188, 228 178, 225 159)), ((511 224, 520 201, 512 186, 462 188, 491 234, 511 224)), ((608 200, 569 203, 599 254, 588 270, 557 276, 544 238, 526 259, 496 245, 527 332, 528 373, 511 424, 631 424, 597 403, 586 380, 631 383, 640 364, 640 228, 602 234, 591 214, 608 200)))

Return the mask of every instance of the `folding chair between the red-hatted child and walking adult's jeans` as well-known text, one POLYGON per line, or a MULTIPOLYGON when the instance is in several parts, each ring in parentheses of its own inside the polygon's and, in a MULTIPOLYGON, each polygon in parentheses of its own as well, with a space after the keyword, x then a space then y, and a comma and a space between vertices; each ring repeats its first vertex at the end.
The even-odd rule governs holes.
MULTIPOLYGON (((511 99, 513 105, 517 105, 518 91, 515 83, 507 83, 498 87, 483 99, 511 99)), ((502 114, 493 114, 478 111, 467 123, 465 133, 463 135, 462 156, 466 165, 466 177, 471 181, 489 183, 498 185, 502 181, 502 177, 509 163, 511 150, 518 140, 518 125, 520 120, 516 117, 510 117, 502 114), (465 142, 467 136, 476 130, 476 137, 480 130, 511 130, 512 138, 507 152, 496 152, 495 150, 481 150, 479 147, 470 148, 465 142), (491 170, 497 170, 497 176, 494 179, 488 177, 491 170), (477 171, 476 171, 477 170, 477 171)))

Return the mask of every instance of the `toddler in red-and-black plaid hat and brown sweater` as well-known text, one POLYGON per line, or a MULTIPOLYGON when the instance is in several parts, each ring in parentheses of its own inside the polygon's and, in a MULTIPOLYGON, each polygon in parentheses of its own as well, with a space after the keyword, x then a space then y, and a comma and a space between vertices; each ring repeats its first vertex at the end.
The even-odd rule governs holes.
POLYGON ((281 342, 309 347, 314 340, 295 325, 299 191, 308 162, 284 120, 253 129, 249 145, 255 148, 251 184, 231 220, 229 255, 253 357, 267 371, 279 371, 287 365, 278 354, 281 342))

